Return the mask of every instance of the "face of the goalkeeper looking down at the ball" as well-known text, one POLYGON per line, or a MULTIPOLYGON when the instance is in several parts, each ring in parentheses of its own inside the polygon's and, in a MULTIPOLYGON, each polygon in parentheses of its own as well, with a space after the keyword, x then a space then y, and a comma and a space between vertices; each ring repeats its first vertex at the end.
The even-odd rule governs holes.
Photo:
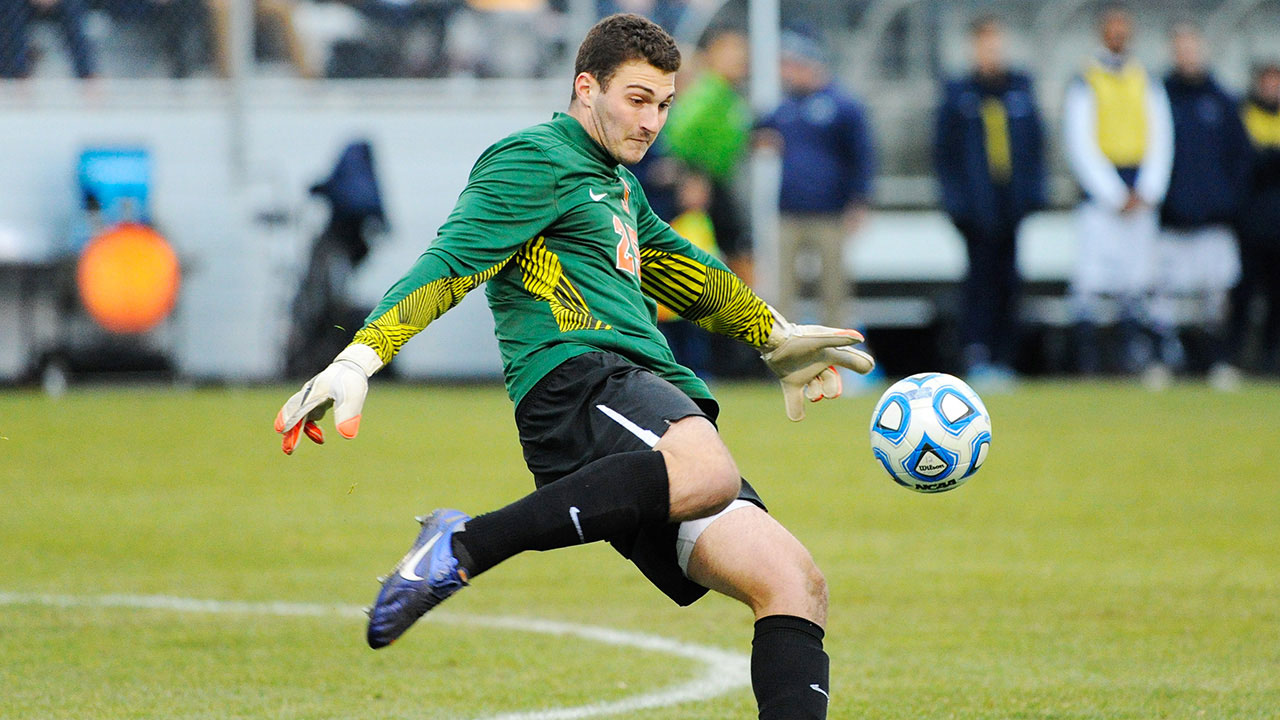
POLYGON ((631 60, 618 67, 607 88, 591 79, 584 124, 614 160, 634 165, 667 124, 675 96, 676 73, 631 60))

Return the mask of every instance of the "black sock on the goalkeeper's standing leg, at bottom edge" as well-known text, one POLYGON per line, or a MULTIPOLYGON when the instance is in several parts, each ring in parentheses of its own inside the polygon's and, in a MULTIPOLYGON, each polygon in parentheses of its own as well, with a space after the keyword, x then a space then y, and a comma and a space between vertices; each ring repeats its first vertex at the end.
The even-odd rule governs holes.
POLYGON ((824 720, 831 666, 817 624, 791 615, 755 621, 751 689, 760 720, 824 720))

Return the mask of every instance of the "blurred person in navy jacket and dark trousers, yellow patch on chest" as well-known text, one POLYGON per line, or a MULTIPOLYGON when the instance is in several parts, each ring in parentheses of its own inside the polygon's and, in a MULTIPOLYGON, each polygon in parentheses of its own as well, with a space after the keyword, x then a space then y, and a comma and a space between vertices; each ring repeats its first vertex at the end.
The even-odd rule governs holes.
POLYGON ((984 15, 969 31, 973 72, 943 87, 933 161, 942 206, 969 254, 965 373, 992 387, 1015 377, 1018 228, 1044 206, 1044 131, 1030 77, 1009 67, 1000 20, 984 15))

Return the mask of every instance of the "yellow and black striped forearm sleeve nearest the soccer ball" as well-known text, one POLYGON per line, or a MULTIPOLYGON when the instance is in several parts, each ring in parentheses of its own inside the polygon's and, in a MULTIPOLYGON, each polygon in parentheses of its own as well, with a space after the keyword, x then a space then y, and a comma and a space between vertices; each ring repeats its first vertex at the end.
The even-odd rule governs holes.
POLYGON ((755 347, 769 340, 769 306, 733 273, 652 247, 640 249, 640 290, 686 320, 755 347))

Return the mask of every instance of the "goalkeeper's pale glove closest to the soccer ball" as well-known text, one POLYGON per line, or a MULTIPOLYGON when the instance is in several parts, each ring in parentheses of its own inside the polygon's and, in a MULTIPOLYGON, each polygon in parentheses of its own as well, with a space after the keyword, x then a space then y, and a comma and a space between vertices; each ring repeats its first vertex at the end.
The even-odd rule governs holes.
POLYGON ((782 383, 787 418, 804 420, 804 398, 818 402, 826 397, 840 397, 842 388, 836 366, 863 375, 876 366, 869 354, 850 347, 863 342, 858 331, 796 325, 773 307, 769 311, 773 313, 773 331, 762 348, 762 356, 782 383))

